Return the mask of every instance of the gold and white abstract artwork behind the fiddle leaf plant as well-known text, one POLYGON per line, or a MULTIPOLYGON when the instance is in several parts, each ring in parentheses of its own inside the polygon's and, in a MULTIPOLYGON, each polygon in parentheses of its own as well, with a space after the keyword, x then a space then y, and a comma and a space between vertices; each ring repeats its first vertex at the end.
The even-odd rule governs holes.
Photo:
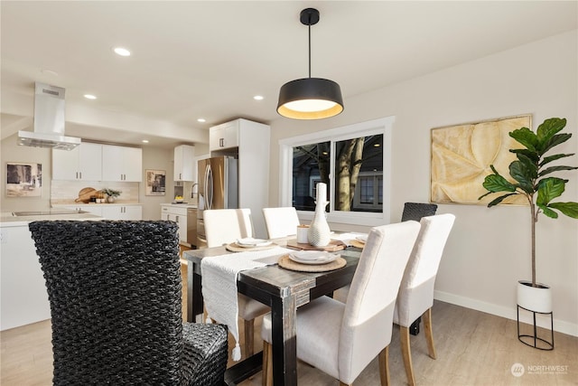
MULTIPOLYGON (((499 118, 484 122, 432 129, 431 202, 487 204, 503 193, 489 194, 482 183, 494 165, 509 181, 509 164, 516 155, 509 149, 522 147, 508 133, 531 128, 532 116, 499 118)), ((526 205, 521 195, 508 197, 503 204, 526 205)))

